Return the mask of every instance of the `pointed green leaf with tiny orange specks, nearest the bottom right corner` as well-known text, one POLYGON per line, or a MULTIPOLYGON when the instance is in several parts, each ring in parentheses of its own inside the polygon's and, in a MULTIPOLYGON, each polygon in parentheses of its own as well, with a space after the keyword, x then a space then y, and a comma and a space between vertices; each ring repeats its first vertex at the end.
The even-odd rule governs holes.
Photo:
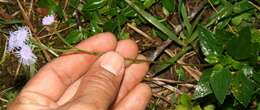
POLYGON ((245 107, 249 104, 254 94, 254 84, 245 76, 243 71, 233 75, 231 82, 231 92, 233 96, 245 107))

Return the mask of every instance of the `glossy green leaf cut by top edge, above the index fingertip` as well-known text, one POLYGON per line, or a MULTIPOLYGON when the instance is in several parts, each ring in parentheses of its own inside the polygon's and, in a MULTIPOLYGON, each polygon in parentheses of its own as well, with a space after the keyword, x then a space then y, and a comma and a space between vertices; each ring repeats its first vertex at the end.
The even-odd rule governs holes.
POLYGON ((95 11, 106 5, 108 0, 87 0, 83 6, 83 11, 95 11))

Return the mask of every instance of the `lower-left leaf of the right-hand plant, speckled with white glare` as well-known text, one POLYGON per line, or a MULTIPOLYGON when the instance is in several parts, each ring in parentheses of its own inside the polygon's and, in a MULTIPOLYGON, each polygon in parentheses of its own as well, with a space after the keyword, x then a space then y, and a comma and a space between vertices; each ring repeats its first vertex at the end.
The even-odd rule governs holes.
POLYGON ((213 93, 213 91, 211 90, 211 87, 210 87, 210 82, 209 82, 212 72, 213 72, 212 69, 203 71, 203 74, 202 74, 202 76, 196 86, 195 92, 193 94, 193 99, 202 98, 202 97, 205 97, 205 96, 213 93))

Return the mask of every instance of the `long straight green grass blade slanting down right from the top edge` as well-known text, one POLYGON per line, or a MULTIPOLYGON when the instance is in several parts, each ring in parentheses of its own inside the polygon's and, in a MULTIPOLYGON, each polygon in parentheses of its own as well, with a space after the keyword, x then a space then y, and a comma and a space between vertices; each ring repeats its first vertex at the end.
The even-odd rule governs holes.
POLYGON ((139 8, 137 5, 135 5, 130 0, 125 0, 131 7, 133 7, 140 15, 142 15, 148 22, 153 24, 156 28, 158 28, 160 31, 168 35, 168 37, 172 40, 174 40, 179 45, 185 45, 183 41, 177 38, 177 36, 171 31, 169 28, 167 28, 165 25, 163 25, 161 22, 159 22, 155 17, 153 17, 151 14, 147 13, 143 9, 139 8))

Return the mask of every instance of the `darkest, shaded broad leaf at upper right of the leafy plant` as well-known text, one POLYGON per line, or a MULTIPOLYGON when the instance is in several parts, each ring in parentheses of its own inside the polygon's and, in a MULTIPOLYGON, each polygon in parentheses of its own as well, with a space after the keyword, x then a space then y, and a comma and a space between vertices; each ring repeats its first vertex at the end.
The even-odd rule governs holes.
POLYGON ((239 31, 239 36, 234 37, 227 43, 227 52, 236 60, 245 60, 252 57, 255 52, 251 43, 251 32, 249 27, 244 27, 239 31))

